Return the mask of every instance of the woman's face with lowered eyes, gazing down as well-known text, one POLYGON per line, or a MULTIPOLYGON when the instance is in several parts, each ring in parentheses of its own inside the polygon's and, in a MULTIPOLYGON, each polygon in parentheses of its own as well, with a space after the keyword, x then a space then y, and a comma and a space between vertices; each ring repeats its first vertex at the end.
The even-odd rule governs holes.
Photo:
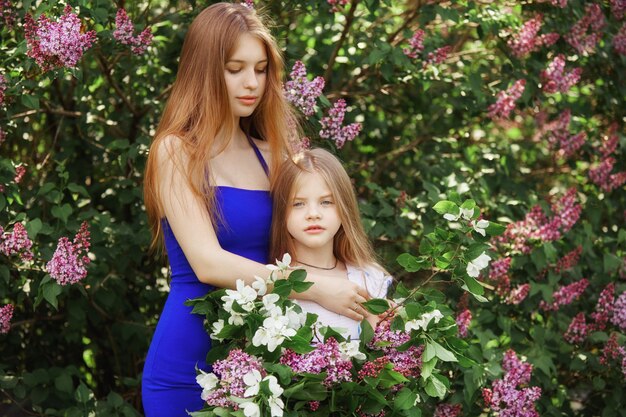
POLYGON ((263 42, 247 33, 241 35, 224 70, 233 116, 247 117, 257 108, 265 91, 267 65, 263 42))

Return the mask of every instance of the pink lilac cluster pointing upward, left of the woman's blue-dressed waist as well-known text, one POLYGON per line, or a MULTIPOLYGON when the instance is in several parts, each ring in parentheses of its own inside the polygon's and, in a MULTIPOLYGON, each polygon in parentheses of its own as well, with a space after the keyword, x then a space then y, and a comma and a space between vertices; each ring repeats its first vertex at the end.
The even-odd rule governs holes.
POLYGON ((46 271, 59 285, 75 284, 87 276, 87 265, 90 262, 89 225, 83 222, 74 241, 67 237, 59 239, 52 259, 46 264, 46 271))

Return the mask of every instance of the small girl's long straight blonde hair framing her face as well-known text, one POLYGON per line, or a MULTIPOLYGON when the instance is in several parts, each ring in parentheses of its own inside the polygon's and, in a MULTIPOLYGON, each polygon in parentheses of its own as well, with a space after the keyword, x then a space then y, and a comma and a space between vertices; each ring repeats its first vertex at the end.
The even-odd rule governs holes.
POLYGON ((376 263, 372 245, 365 234, 354 187, 341 162, 324 149, 311 149, 285 160, 272 184, 272 241, 270 259, 280 259, 284 253, 293 256, 295 246, 287 231, 287 216, 296 194, 298 178, 303 173, 319 174, 330 189, 335 201, 341 227, 333 242, 334 255, 340 261, 359 267, 376 263))

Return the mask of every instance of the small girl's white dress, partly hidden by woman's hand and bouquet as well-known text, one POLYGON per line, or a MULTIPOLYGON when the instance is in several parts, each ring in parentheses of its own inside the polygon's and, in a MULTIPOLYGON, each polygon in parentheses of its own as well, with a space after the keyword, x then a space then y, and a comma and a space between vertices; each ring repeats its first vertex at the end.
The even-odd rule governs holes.
MULTIPOLYGON (((346 265, 348 279, 361 287, 364 287, 372 298, 385 298, 387 290, 393 278, 376 265, 366 268, 357 268, 346 265)), ((349 317, 326 310, 314 301, 298 300, 298 304, 305 313, 313 313, 318 316, 318 323, 322 326, 330 326, 350 340, 358 340, 361 334, 361 323, 349 317)))

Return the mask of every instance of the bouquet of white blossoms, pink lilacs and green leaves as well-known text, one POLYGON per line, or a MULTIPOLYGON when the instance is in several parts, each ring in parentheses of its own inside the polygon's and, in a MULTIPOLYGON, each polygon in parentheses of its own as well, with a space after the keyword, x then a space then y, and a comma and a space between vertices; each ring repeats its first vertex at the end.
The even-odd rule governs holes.
MULTIPOLYGON (((363 303, 382 320, 375 329, 364 320, 359 340, 320 325, 316 315, 304 313, 288 298, 292 291, 303 292, 312 285, 304 270, 289 269, 288 254, 267 266, 271 270, 267 281, 256 277, 252 285, 245 285, 239 280, 235 290, 220 289, 188 301, 194 313, 206 317, 214 341, 207 355, 212 372, 198 370, 197 375, 205 407, 191 415, 421 416, 423 409, 432 413, 435 403, 450 391, 452 373, 477 362, 466 354, 468 344, 461 336, 467 329, 457 326, 444 294, 425 284, 446 272, 486 301, 474 277, 488 264, 484 252, 488 246, 468 245, 467 240, 474 233, 482 238, 491 229, 501 233, 495 224, 476 220, 471 200, 461 207, 446 201, 435 210, 448 221, 467 224, 453 232, 437 228, 429 234, 428 255, 398 258, 407 271, 430 270, 431 275, 412 290, 398 284, 393 303, 384 299, 363 303), (467 256, 455 255, 461 249, 467 256)), ((460 411, 460 405, 452 407, 460 411)))

